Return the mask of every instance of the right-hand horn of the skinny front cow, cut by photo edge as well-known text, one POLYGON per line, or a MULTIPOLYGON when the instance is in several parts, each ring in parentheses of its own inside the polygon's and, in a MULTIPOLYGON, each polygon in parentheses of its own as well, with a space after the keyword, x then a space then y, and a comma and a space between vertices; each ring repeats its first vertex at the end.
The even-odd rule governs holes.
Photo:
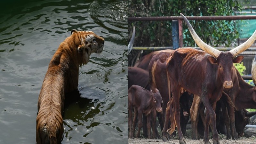
POLYGON ((238 54, 240 54, 241 52, 244 52, 246 49, 248 49, 254 43, 255 40, 256 40, 256 30, 254 31, 252 36, 246 42, 244 42, 241 45, 238 45, 237 47, 230 50, 229 52, 231 52, 235 58, 238 54))

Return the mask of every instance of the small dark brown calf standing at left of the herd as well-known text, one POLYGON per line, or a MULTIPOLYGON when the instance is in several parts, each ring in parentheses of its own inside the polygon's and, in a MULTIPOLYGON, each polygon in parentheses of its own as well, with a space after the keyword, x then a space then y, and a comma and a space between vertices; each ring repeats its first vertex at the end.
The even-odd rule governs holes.
MULTIPOLYGON (((158 90, 156 93, 153 93, 152 90, 149 92, 148 90, 138 86, 132 85, 128 90, 128 124, 130 128, 130 136, 129 138, 134 137, 136 119, 138 116, 138 132, 136 133, 136 137, 140 136, 140 129, 142 127, 142 114, 146 114, 148 122, 148 138, 150 139, 151 133, 151 125, 150 125, 150 113, 151 111, 156 108, 158 112, 162 111, 161 107, 162 97, 158 90), (134 109, 134 117, 132 122, 132 109, 134 109)), ((153 123, 153 128, 155 127, 153 123)), ((153 131, 153 135, 155 135, 153 131)))

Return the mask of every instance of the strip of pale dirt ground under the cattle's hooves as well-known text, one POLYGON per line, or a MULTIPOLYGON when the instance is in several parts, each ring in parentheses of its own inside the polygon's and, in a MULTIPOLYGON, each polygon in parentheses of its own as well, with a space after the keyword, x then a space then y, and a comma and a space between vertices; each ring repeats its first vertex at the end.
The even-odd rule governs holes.
MULTIPOLYGON (((185 139, 187 144, 204 144, 203 140, 191 140, 191 139, 185 139)), ((212 143, 212 140, 210 140, 212 143)), ((134 139, 128 139, 129 144, 179 144, 179 140, 169 140, 168 142, 164 142, 161 139, 140 139, 140 138, 134 138, 134 139)), ((221 144, 256 144, 256 137, 250 137, 250 138, 240 138, 238 140, 225 140, 220 139, 221 144)))

